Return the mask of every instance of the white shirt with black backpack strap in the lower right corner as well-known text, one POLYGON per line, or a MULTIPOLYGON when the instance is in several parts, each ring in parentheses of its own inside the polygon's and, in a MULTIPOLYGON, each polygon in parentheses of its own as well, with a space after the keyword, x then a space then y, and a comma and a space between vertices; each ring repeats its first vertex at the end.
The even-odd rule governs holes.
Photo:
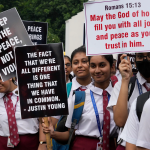
MULTIPOLYGON (((150 83, 147 83, 147 87, 150 88, 150 83)), ((136 104, 137 104, 137 99, 135 99, 135 101, 132 103, 127 122, 125 124, 124 130, 121 133, 120 137, 128 143, 131 143, 134 145, 139 144, 138 146, 140 146, 140 145, 147 146, 147 143, 149 142, 149 140, 147 140, 147 141, 144 140, 143 136, 149 136, 148 135, 149 134, 148 133, 149 126, 147 126, 146 123, 147 123, 147 121, 149 121, 148 109, 150 107, 148 108, 148 106, 150 104, 150 99, 147 100, 147 102, 145 103, 145 105, 143 107, 143 112, 141 115, 141 118, 143 116, 143 119, 141 119, 142 121, 140 120, 140 122, 139 122, 139 119, 138 119, 138 116, 136 113, 136 104), (139 129, 139 126, 141 126, 141 129, 139 129), (143 127, 145 127, 145 128, 143 128, 143 127)), ((141 146, 141 147, 143 147, 143 146, 141 146)), ((150 146, 150 144, 149 144, 149 146, 150 146)))

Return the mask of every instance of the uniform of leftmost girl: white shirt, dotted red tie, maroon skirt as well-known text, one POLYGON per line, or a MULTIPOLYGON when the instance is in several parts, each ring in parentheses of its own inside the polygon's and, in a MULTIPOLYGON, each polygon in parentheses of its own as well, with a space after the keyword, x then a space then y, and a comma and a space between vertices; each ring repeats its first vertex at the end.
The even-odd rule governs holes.
POLYGON ((0 93, 0 150, 37 150, 39 145, 38 120, 21 119, 20 102, 17 91, 18 89, 12 91, 12 94, 9 97, 11 102, 9 101, 9 98, 5 96, 5 93, 0 93), (9 105, 8 103, 12 105, 9 105), (10 108, 11 106, 12 108, 10 108), (10 118, 8 113, 12 115, 11 117, 13 119, 10 118), (13 121, 12 125, 16 124, 13 126, 14 133, 12 133, 11 130, 11 121, 13 121), (15 132, 19 135, 15 134, 15 132), (12 135, 14 135, 14 139, 12 139, 12 135), (17 138, 17 141, 19 141, 17 146, 14 148, 7 147, 8 137, 10 137, 10 142, 17 138))

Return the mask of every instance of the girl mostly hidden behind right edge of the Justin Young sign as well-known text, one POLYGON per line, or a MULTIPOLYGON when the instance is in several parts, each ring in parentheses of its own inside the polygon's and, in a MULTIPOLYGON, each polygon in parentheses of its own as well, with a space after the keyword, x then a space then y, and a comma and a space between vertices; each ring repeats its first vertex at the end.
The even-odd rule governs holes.
POLYGON ((69 83, 72 81, 73 76, 70 74, 72 71, 71 67, 71 59, 69 56, 64 56, 64 63, 65 63, 65 74, 66 74, 66 83, 69 83))

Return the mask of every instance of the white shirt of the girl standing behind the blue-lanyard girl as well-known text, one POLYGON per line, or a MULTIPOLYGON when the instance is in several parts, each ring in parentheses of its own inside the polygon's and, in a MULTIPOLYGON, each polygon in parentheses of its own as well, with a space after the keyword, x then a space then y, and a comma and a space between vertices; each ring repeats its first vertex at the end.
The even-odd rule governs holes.
MULTIPOLYGON (((92 80, 92 79, 91 79, 92 80)), ((81 87, 82 89, 88 89, 90 86, 90 84, 86 85, 86 86, 82 86, 81 84, 79 84, 77 82, 77 79, 76 77, 74 77, 72 79, 72 87, 71 87, 71 90, 70 90, 70 94, 69 94, 69 97, 68 97, 68 101, 70 101, 72 99, 72 96, 73 96, 73 92, 76 91, 77 89, 79 89, 79 87, 81 87)), ((60 119, 61 116, 52 116, 53 118, 56 118, 56 119, 60 119)))

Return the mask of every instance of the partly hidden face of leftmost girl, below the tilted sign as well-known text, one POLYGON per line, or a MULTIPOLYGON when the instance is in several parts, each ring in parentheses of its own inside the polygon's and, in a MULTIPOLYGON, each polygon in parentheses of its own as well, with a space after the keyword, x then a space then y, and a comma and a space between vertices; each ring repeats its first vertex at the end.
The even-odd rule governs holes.
POLYGON ((12 82, 12 79, 3 82, 0 77, 0 93, 11 92, 11 82, 12 82))

